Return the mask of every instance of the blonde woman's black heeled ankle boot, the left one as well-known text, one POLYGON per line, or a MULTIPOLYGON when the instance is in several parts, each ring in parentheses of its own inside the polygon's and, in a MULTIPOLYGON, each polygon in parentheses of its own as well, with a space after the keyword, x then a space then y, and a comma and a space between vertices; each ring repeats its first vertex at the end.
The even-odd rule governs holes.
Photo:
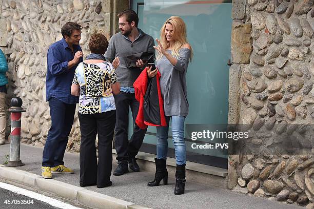
POLYGON ((168 172, 166 168, 166 159, 157 159, 155 158, 156 164, 156 173, 155 179, 151 182, 148 182, 147 186, 159 186, 159 183, 164 179, 164 185, 168 184, 168 172))

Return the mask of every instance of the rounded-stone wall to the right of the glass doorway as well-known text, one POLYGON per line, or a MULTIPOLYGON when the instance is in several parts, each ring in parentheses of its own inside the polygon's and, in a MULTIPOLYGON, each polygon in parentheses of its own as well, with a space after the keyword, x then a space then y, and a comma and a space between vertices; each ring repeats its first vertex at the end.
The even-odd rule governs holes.
POLYGON ((229 156, 228 188, 314 208, 312 151, 268 150, 277 139, 313 131, 314 1, 239 0, 232 7, 229 123, 247 124, 246 143, 260 152, 229 156))

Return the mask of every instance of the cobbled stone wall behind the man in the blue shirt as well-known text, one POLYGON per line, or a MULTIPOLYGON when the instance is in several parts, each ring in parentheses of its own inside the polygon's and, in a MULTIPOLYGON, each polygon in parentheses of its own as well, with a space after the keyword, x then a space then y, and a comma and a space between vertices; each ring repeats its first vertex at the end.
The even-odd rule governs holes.
MULTIPOLYGON (((117 29, 116 13, 127 9, 126 0, 0 0, 0 47, 8 58, 8 98, 23 100, 22 142, 42 147, 50 128, 45 96, 47 50, 62 38, 68 21, 83 26, 80 45, 88 54, 88 39, 95 31, 109 39, 117 29)), ((7 132, 10 132, 8 121, 7 132)), ((80 150, 77 114, 70 133, 68 151, 80 150)))

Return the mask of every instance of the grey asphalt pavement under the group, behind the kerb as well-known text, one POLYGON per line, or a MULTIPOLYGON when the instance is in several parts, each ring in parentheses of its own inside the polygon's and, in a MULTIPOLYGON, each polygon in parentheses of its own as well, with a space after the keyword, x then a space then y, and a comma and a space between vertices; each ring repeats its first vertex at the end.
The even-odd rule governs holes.
MULTIPOLYGON (((0 164, 5 154, 9 154, 9 144, 0 146, 0 164)), ((27 172, 41 175, 43 148, 21 145, 21 160, 24 166, 17 167, 27 172)), ((66 165, 73 168, 75 174, 54 175, 53 178, 58 181, 66 182, 79 186, 79 155, 65 154, 66 165)), ((114 160, 115 161, 115 160, 114 160)), ((116 165, 113 165, 115 168, 116 165)), ((176 196, 173 194, 175 179, 169 176, 168 185, 147 187, 147 182, 151 181, 154 176, 151 172, 130 172, 123 176, 112 176, 113 185, 110 187, 98 189, 95 186, 85 187, 88 190, 102 193, 111 197, 123 199, 126 201, 149 206, 152 208, 215 208, 215 209, 304 209, 297 204, 287 204, 267 198, 257 198, 229 190, 219 189, 217 187, 194 182, 186 183, 186 193, 176 196)))

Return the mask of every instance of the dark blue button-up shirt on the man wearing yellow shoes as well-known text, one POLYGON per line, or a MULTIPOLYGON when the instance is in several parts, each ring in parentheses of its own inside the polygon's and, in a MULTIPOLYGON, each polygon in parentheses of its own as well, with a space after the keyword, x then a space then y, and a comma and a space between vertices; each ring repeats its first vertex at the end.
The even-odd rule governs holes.
POLYGON ((69 45, 62 38, 53 43, 47 54, 47 74, 46 74, 46 100, 55 97, 65 103, 75 104, 78 102, 78 96, 71 95, 71 85, 75 69, 78 63, 71 69, 68 69, 68 63, 74 58, 77 51, 82 51, 79 45, 73 45, 74 53, 71 52, 69 45))

